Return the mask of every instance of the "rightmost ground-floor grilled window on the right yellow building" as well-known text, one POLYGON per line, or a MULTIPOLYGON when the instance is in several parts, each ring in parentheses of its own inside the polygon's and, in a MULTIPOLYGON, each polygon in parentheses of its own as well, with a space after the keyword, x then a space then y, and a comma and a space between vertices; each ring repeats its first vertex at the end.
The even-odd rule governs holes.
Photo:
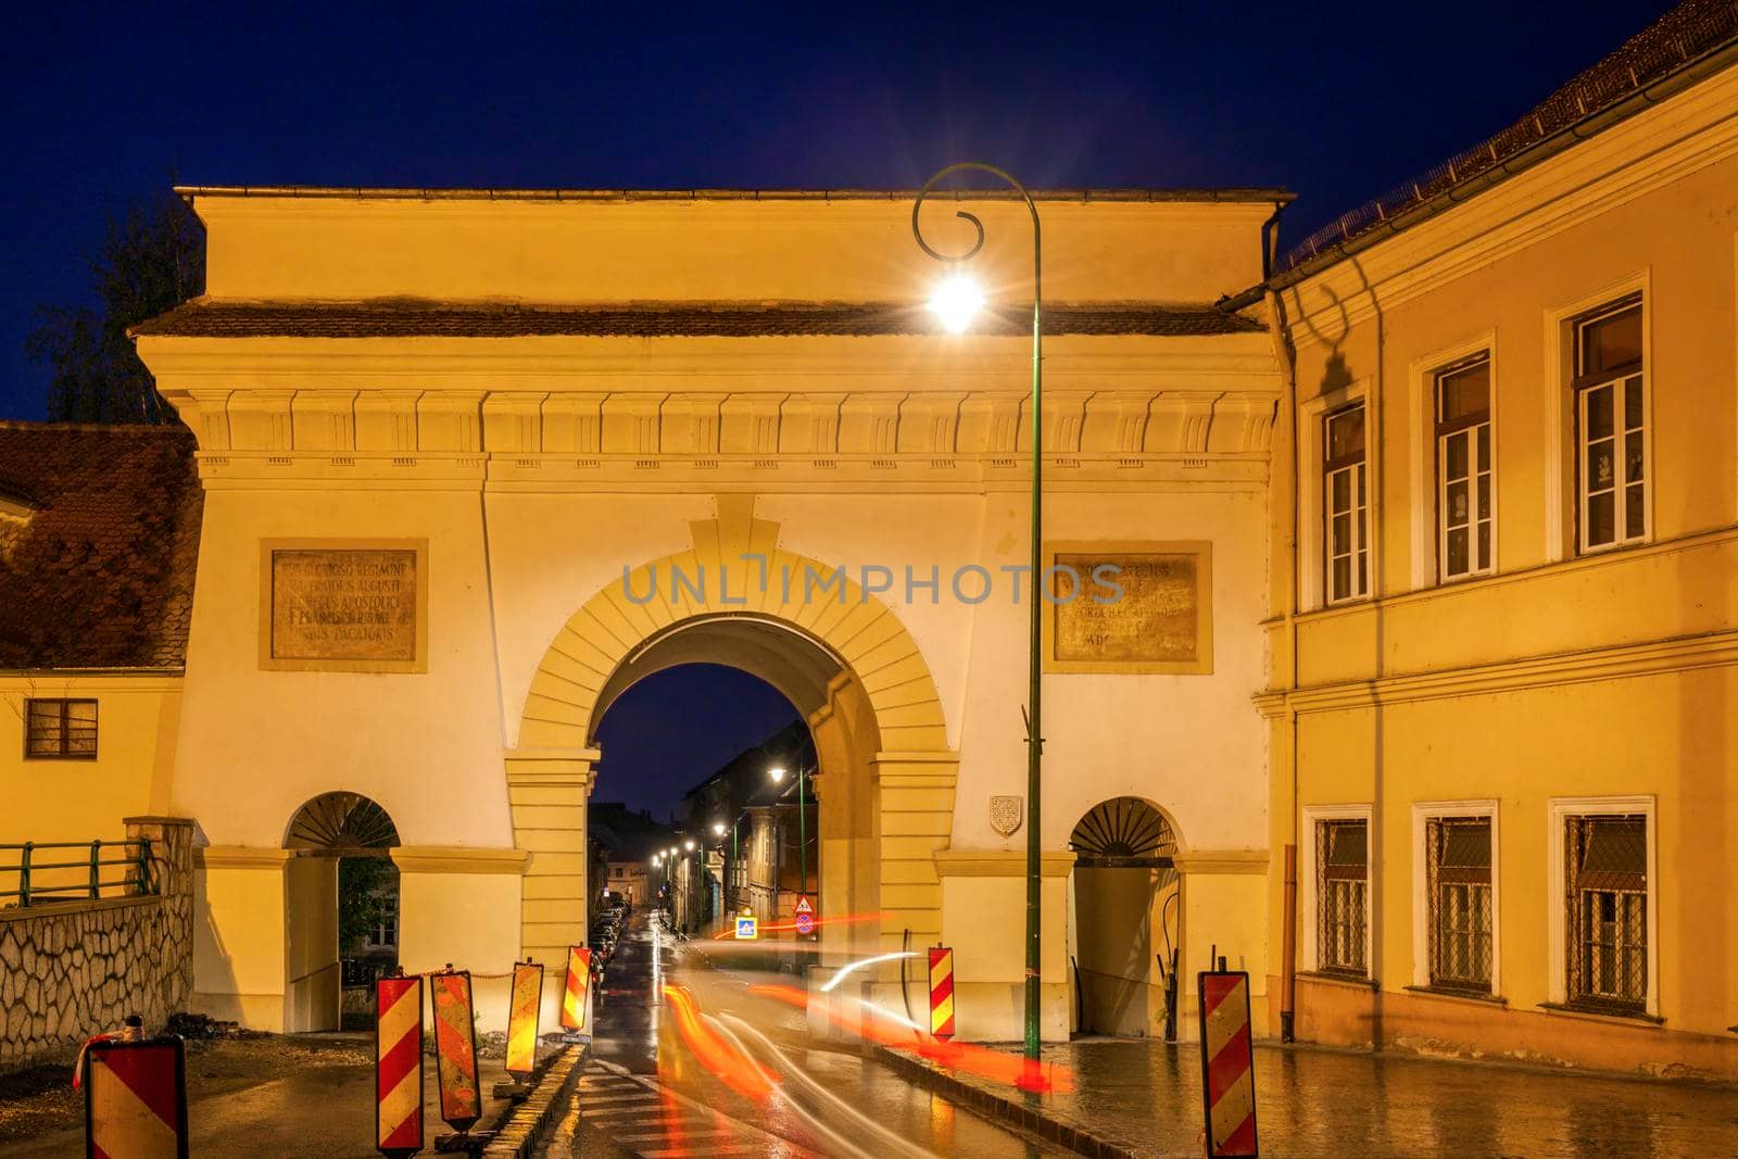
POLYGON ((1564 832, 1569 1004, 1648 1008, 1648 818, 1568 817, 1564 832))

